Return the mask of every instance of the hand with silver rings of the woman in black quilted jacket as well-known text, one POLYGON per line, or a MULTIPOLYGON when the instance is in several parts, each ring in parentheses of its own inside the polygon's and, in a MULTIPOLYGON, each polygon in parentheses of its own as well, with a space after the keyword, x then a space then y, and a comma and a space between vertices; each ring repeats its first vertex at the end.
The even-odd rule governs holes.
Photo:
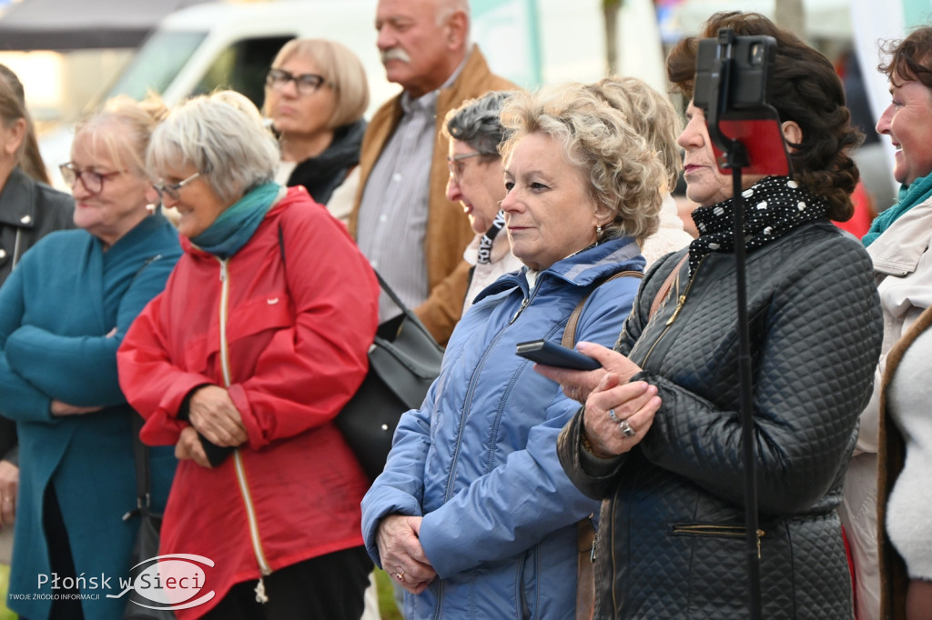
POLYGON ((644 381, 622 383, 618 375, 607 373, 586 399, 583 432, 593 452, 605 458, 628 452, 647 435, 653 416, 660 409, 657 387, 644 381), (619 422, 629 425, 635 434, 625 437, 619 422))

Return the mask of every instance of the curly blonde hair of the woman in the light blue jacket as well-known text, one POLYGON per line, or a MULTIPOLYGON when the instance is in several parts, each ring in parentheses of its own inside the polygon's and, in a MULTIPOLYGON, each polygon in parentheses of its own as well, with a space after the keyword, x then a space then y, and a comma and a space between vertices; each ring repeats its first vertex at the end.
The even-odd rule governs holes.
POLYGON ((501 124, 509 132, 500 145, 506 161, 517 142, 533 133, 563 146, 596 205, 613 215, 603 227, 604 237, 640 241, 657 230, 662 195, 669 189, 657 149, 588 88, 571 83, 518 92, 505 102, 501 124))

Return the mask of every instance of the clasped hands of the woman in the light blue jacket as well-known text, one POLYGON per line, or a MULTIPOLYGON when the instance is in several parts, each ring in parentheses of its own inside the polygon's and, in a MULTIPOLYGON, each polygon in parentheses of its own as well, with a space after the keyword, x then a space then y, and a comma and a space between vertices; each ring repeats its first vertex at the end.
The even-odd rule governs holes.
POLYGON ((378 524, 376 536, 382 568, 411 594, 423 592, 437 576, 418 540, 422 520, 389 515, 378 524))

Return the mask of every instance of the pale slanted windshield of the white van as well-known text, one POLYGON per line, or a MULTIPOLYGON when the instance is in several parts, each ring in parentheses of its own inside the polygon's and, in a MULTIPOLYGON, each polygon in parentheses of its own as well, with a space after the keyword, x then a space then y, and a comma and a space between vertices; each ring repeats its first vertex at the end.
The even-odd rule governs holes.
POLYGON ((205 38, 207 32, 156 31, 103 100, 129 95, 142 101, 149 89, 161 94, 205 38))

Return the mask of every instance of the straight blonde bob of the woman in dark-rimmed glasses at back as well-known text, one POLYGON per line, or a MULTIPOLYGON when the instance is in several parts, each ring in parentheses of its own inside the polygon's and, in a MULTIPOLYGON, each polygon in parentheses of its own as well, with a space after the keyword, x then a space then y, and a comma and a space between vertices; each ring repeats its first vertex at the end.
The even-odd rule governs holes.
MULTIPOLYGON (((324 79, 321 88, 334 91, 334 114, 327 119, 327 128, 336 129, 355 123, 369 107, 369 82, 363 62, 349 47, 328 39, 292 39, 281 47, 272 61, 272 69, 295 56, 317 65, 324 79)), ((266 87, 268 93, 268 87, 266 87)), ((266 95, 268 101, 268 95, 266 95)), ((268 110, 263 106, 266 115, 268 110)))

